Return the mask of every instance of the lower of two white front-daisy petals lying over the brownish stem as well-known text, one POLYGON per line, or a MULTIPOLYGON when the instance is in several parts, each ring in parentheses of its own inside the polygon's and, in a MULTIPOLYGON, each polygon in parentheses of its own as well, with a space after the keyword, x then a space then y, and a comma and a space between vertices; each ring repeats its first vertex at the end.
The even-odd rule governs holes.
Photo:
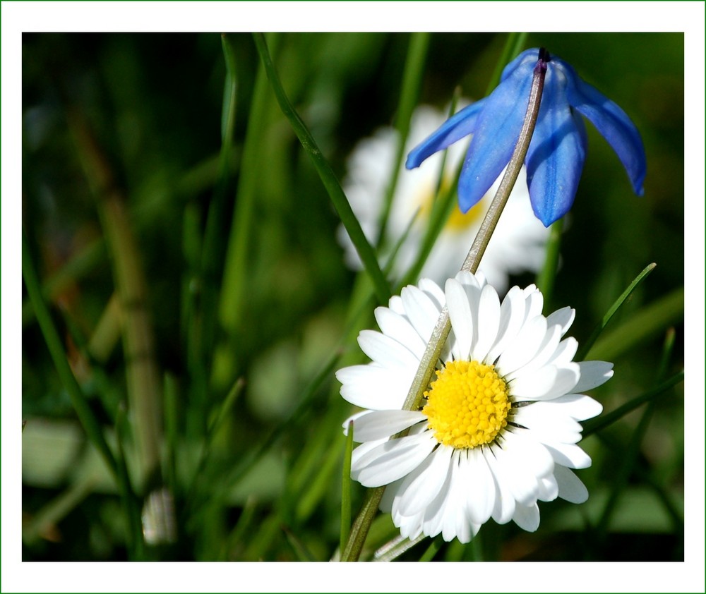
POLYGON ((417 468, 436 445, 431 432, 408 435, 378 445, 357 461, 352 473, 364 487, 381 487, 417 468))

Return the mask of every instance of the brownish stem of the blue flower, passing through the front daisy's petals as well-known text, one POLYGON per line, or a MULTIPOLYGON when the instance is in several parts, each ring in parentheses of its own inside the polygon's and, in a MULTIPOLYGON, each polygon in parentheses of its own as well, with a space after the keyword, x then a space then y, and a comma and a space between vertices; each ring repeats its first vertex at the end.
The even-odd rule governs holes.
MULTIPOLYGON (((485 253, 491 235, 498 224, 498 219, 500 219, 500 215, 503 212, 503 208, 508 202, 508 198, 510 198, 510 192, 513 186, 515 186, 517 176, 520 174, 522 163, 525 162, 525 155, 527 154, 527 149, 530 147, 534 126, 537 123, 539 103, 542 101, 544 75, 546 74, 546 62, 548 60, 549 57, 544 51, 544 48, 540 49, 537 66, 534 66, 530 101, 527 104, 525 121, 522 122, 522 129, 520 130, 519 138, 517 138, 513 156, 510 157, 510 162, 508 163, 507 169, 505 169, 505 175, 503 175, 500 187, 481 223, 481 227, 463 262, 461 270, 476 272, 478 269, 481 257, 483 257, 485 253)), ((405 399, 402 410, 416 411, 419 409, 421 399, 424 398, 424 391, 429 386, 431 375, 436 369, 436 362, 441 355, 441 349, 448 338, 450 330, 451 320, 448 316, 448 309, 444 306, 441 310, 441 314, 439 314, 436 327, 434 327, 431 333, 431 338, 426 344, 426 351, 424 351, 424 356, 421 358, 417 375, 414 376, 414 381, 409 388, 407 399, 405 399)), ((397 434, 395 437, 400 437, 401 435, 404 435, 404 432, 397 434)), ((367 493, 363 507, 351 528, 347 546, 341 555, 341 561, 357 561, 384 491, 385 487, 377 487, 369 490, 367 493)))

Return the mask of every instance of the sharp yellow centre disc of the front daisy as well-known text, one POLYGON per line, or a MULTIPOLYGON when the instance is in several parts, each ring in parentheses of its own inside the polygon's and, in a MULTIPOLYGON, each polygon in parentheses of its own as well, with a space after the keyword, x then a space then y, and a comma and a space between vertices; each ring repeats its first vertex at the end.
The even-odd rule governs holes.
POLYGON ((495 365, 450 361, 436 370, 424 396, 422 412, 439 443, 455 448, 488 444, 508 424, 508 387, 495 365))

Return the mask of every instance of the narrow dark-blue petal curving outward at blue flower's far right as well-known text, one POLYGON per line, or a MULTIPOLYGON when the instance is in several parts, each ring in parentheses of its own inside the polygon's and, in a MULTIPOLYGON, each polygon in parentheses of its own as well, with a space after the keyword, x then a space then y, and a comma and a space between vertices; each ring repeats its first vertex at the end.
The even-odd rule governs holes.
POLYGON ((566 72, 569 104, 586 116, 613 147, 628 172, 635 194, 641 196, 644 193, 642 183, 645 181, 647 159, 638 128, 618 104, 581 80, 569 64, 561 60, 557 62, 566 72))

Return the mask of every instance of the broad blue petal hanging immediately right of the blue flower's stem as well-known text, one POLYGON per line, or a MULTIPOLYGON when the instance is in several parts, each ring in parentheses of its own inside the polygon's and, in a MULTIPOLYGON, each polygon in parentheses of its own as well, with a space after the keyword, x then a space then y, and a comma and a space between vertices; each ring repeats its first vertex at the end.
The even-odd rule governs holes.
POLYGON ((532 210, 544 226, 561 219, 573 205, 586 145, 585 126, 568 106, 563 76, 550 68, 525 157, 532 210))

